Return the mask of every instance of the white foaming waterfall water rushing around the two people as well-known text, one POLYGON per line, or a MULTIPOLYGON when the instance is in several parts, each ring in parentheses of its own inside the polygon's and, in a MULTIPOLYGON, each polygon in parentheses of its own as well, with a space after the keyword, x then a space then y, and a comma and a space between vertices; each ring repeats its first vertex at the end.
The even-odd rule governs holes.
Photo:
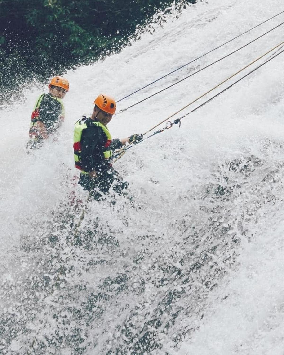
MULTIPOLYGON (((133 201, 88 203, 78 233, 82 210, 69 203, 88 196, 76 185, 73 128, 99 93, 120 99, 280 11, 278 0, 198 2, 120 54, 67 72, 60 136, 35 154, 25 144, 46 86, 1 111, 1 354, 283 354, 283 54, 129 149, 114 167, 133 201)), ((283 13, 118 110, 281 22, 283 13)), ((114 116, 112 136, 147 131, 282 40, 283 26, 114 116)))

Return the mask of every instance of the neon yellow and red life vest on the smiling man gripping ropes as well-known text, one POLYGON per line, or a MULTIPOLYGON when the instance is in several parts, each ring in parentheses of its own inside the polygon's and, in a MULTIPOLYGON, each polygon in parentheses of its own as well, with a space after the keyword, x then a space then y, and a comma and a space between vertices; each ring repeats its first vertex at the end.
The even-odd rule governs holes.
POLYGON ((83 166, 81 162, 81 137, 82 137, 83 130, 86 129, 87 127, 97 126, 102 128, 104 134, 107 137, 107 142, 104 144, 104 148, 105 148, 105 150, 103 151, 104 158, 111 160, 112 157, 112 151, 109 148, 110 143, 112 141, 112 136, 110 135, 107 127, 101 124, 101 122, 96 122, 92 120, 86 122, 86 120, 87 118, 83 118, 83 119, 79 119, 76 122, 75 129, 74 129, 74 144, 73 144, 75 167, 81 170, 81 173, 83 174, 88 174, 88 173, 83 170, 83 166))

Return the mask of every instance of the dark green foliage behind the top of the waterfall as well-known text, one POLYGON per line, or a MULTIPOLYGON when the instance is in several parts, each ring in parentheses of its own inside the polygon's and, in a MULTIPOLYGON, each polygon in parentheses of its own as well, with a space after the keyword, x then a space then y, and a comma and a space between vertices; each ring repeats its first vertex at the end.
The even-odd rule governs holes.
POLYGON ((0 92, 118 52, 158 11, 197 0, 0 0, 0 92))

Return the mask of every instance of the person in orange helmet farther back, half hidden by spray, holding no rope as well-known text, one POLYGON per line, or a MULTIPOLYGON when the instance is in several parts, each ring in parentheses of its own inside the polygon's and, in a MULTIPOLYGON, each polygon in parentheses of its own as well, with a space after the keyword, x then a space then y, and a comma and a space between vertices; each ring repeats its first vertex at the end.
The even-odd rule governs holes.
POLYGON ((55 133, 64 121, 63 98, 69 91, 69 82, 62 76, 51 79, 49 93, 41 94, 32 112, 27 148, 40 148, 45 139, 55 133))

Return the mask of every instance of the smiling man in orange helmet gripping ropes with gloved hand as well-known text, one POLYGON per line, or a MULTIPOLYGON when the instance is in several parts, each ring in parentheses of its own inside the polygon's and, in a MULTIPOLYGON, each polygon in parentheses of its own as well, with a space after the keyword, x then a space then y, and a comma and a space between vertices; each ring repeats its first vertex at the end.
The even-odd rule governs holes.
POLYGON ((80 170, 78 184, 84 190, 100 200, 102 193, 108 193, 110 186, 119 195, 129 185, 123 182, 118 172, 112 167, 112 154, 126 143, 137 143, 142 134, 135 134, 123 139, 113 139, 107 128, 116 110, 115 100, 106 94, 100 94, 93 102, 92 115, 80 118, 74 129, 75 167, 80 170), (115 182, 115 184, 113 184, 115 182), (98 191, 95 191, 97 188, 98 191))

